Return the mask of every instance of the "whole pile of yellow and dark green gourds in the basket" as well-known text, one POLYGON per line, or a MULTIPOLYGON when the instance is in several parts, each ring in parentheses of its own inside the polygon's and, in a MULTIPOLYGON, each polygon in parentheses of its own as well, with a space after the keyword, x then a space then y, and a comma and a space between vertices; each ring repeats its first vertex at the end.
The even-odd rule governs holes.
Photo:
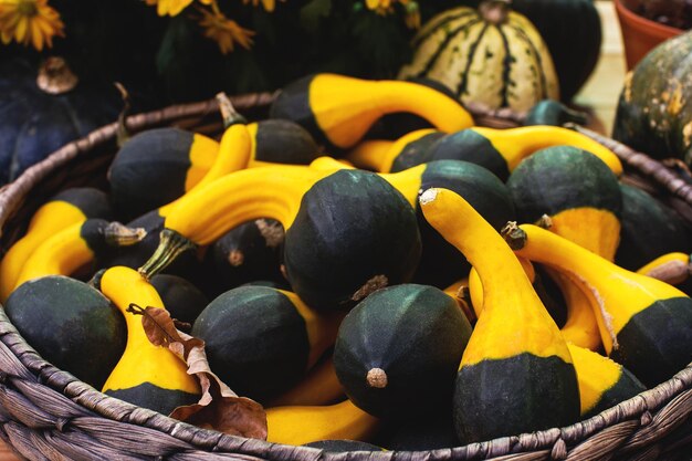
POLYGON ((135 135, 108 196, 45 202, 0 265, 27 340, 169 413, 200 385, 133 314, 166 308, 266 408, 268 440, 370 449, 563 427, 692 360, 689 292, 633 272, 675 251, 689 264, 690 233, 628 192, 598 143, 475 127, 429 86, 331 74, 283 88, 270 114, 232 114, 219 143, 135 135), (364 138, 398 112, 431 127, 364 138), (671 237, 639 241, 659 217, 671 237))

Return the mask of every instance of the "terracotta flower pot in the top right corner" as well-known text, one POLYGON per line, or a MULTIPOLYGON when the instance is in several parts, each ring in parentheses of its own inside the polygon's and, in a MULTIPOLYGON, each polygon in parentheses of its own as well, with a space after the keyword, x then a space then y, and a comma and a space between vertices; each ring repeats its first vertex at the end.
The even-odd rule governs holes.
POLYGON ((656 45, 684 32, 682 29, 661 24, 635 13, 632 9, 636 4, 637 0, 615 0, 628 70, 656 45))

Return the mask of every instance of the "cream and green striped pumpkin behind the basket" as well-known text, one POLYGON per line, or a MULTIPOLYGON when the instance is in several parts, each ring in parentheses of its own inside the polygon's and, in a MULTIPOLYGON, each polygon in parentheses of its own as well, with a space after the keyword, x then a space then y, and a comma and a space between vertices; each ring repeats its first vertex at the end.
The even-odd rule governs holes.
POLYGON ((547 46, 534 25, 506 1, 459 7, 428 21, 413 39, 413 59, 399 78, 431 78, 464 104, 528 111, 559 98, 547 46))

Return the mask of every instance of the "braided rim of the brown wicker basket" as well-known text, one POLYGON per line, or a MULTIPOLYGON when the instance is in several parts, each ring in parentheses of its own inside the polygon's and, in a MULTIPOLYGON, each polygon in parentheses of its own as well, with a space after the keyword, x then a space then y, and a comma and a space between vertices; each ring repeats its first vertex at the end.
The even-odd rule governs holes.
MULTIPOLYGON (((234 106, 239 109, 255 105, 269 104, 274 94, 260 93, 232 97, 234 106)), ((208 99, 199 103, 180 104, 169 106, 160 111, 138 114, 127 117, 126 125, 133 130, 144 129, 151 124, 170 123, 188 116, 198 116, 218 112, 217 99, 208 99)), ((77 139, 63 146, 50 155, 46 159, 24 171, 15 181, 0 189, 0 233, 2 226, 11 217, 15 207, 21 203, 42 178, 78 155, 88 151, 96 145, 101 145, 115 137, 117 123, 105 125, 84 138, 77 139)), ((656 161, 656 160, 654 160, 656 161)), ((272 443, 256 439, 223 434, 218 431, 198 428, 186 422, 169 418, 165 415, 134 406, 114 397, 106 396, 90 385, 78 380, 67 371, 61 370, 45 362, 21 337, 8 319, 4 311, 0 310, 0 340, 13 354, 23 366, 31 371, 39 383, 48 388, 62 394, 70 400, 93 411, 99 417, 118 422, 136 423, 160 432, 166 432, 176 439, 190 443, 192 448, 218 453, 237 453, 240 455, 256 457, 256 459, 285 460, 285 459, 343 459, 343 454, 325 452, 311 447, 295 447, 272 443), (229 448, 230 451, 223 449, 229 448)), ((6 356, 0 354, 0 365, 4 365, 6 356)), ((12 367, 10 367, 11 369, 12 367)), ((0 385, 11 376, 6 371, 7 367, 0 366, 0 385)), ((21 378, 21 376, 14 376, 21 378)), ((387 451, 387 452, 349 452, 353 459, 389 459, 396 453, 409 453, 423 455, 431 460, 449 459, 486 459, 486 457, 502 457, 517 453, 536 452, 548 450, 551 459, 562 459, 567 454, 567 447, 574 447, 588 441, 593 436, 607 430, 623 421, 637 420, 639 428, 646 428, 652 420, 651 412, 663 409, 678 398, 692 398, 692 363, 680 370, 671 379, 661 383, 657 387, 641 392, 621 404, 611 407, 591 418, 578 421, 563 428, 551 428, 531 433, 502 437, 490 441, 470 443, 462 447, 453 447, 440 450, 422 451, 387 451)), ((0 402, 0 407, 1 407, 0 402)), ((692 405, 686 406, 680 416, 680 421, 689 419, 692 415, 692 405)), ((656 436, 656 433, 653 434, 656 436)), ((663 433, 661 437, 665 436, 663 433)), ((656 440, 652 437, 651 440, 656 440)), ((254 459, 254 458, 253 458, 254 459)))

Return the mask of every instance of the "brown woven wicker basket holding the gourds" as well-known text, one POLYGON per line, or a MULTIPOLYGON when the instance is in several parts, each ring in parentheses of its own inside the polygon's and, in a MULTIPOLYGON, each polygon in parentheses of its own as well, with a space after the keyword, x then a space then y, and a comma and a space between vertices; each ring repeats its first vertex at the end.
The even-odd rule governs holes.
MULTIPOLYGON (((247 95, 232 102, 248 111, 265 107, 272 97, 247 95)), ((175 124, 218 133, 220 126, 210 122, 219 118, 217 113, 214 99, 128 117, 127 126, 135 132, 175 124)), ((475 115, 486 125, 513 124, 503 114, 475 115)), ((105 187, 117 129, 112 124, 64 146, 0 191, 2 249, 17 240, 31 213, 57 190, 76 185, 105 187)), ((649 186, 663 187, 663 196, 689 212, 692 185, 641 154, 621 145, 610 147, 619 150, 630 169, 635 165, 641 177, 654 177, 649 186)), ((31 460, 683 459, 681 453, 692 443, 691 415, 692 364, 658 387, 566 428, 434 451, 324 452, 199 429, 107 397, 43 360, 0 310, 0 437, 31 460)))

